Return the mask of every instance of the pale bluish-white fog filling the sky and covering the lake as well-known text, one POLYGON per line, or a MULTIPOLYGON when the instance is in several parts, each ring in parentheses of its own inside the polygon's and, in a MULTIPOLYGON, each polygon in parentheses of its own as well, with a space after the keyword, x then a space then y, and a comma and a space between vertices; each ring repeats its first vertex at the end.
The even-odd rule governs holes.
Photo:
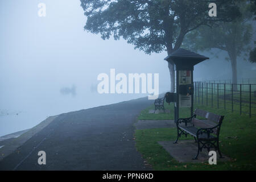
MULTIPOLYGON (((85 22, 79 0, 0 2, 0 136, 51 115, 148 96, 98 94, 97 76, 110 75, 111 68, 127 75, 159 73, 159 92, 168 91, 166 52, 146 55, 123 39, 102 40, 84 31, 85 22), (46 17, 38 16, 40 2, 46 3, 46 17)), ((214 63, 197 65, 195 80, 231 77, 231 69, 224 72, 230 63, 218 69, 214 63)), ((241 65, 255 71, 255 65, 241 65)))

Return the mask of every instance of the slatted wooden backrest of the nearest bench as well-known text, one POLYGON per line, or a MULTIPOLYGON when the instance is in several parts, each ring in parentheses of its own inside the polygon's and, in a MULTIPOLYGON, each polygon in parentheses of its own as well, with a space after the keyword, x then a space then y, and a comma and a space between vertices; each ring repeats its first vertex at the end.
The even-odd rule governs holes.
MULTIPOLYGON (((221 125, 222 120, 224 118, 222 115, 209 113, 208 111, 201 110, 201 109, 196 109, 195 114, 197 116, 207 118, 207 120, 200 120, 197 118, 193 118, 192 120, 193 125, 200 128, 211 128, 218 124, 221 125)), ((213 129, 214 134, 218 135, 219 129, 220 129, 219 127, 216 127, 215 129, 213 129)))

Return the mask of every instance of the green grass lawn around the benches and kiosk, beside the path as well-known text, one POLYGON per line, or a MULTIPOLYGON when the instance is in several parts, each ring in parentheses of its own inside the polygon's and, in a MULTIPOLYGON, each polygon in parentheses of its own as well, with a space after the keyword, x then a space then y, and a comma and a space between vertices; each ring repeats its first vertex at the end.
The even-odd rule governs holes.
MULTIPOLYGON (((174 105, 165 103, 170 114, 148 114, 149 109, 143 110, 138 119, 174 119, 174 105)), ((207 163, 179 163, 168 154, 158 141, 175 140, 176 129, 146 129, 135 130, 136 147, 155 170, 255 170, 256 169, 256 117, 230 110, 216 109, 211 106, 195 105, 195 108, 224 115, 220 131, 220 150, 231 158, 230 162, 218 162, 217 165, 207 163)), ((180 118, 189 117, 189 108, 180 109, 180 118)), ((182 136, 179 140, 193 139, 182 136)), ((204 149, 206 150, 206 149, 204 149)), ((197 151, 195 151, 196 154, 197 151)), ((218 156, 218 155, 217 155, 218 156)))

